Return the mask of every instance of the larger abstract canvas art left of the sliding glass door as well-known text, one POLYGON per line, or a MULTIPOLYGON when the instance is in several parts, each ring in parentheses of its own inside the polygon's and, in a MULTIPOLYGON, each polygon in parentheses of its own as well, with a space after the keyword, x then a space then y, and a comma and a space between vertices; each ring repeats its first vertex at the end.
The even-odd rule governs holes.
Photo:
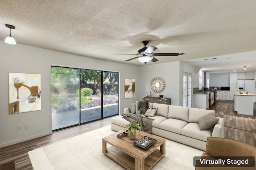
POLYGON ((41 110, 41 74, 9 73, 9 114, 41 110))

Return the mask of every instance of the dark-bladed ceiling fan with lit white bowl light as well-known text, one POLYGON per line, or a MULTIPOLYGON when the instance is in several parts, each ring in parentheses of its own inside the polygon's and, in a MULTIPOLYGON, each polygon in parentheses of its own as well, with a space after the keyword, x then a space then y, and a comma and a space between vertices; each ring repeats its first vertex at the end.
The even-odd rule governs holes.
POLYGON ((178 55, 183 55, 185 53, 153 53, 157 47, 154 46, 148 46, 149 41, 142 41, 141 42, 144 47, 142 49, 138 50, 138 54, 116 54, 116 55, 138 55, 138 57, 134 57, 132 59, 128 59, 126 61, 131 61, 133 59, 137 59, 141 63, 148 63, 150 61, 156 62, 158 59, 155 58, 155 56, 178 56, 178 55))

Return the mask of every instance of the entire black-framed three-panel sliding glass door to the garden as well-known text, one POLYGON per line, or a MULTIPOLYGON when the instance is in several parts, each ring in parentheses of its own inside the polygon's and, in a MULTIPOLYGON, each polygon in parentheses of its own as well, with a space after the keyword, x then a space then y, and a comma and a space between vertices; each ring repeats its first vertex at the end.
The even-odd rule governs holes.
POLYGON ((118 73, 52 66, 52 130, 118 115, 118 73))

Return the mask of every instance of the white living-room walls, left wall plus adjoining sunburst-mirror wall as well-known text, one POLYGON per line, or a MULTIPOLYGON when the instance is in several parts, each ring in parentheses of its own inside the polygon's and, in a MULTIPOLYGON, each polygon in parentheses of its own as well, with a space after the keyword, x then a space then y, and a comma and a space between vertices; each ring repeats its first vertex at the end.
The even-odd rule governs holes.
MULTIPOLYGON (((132 66, 111 61, 104 61, 61 53, 47 49, 27 45, 9 45, 0 41, 0 147, 20 143, 52 133, 51 117, 51 66, 67 66, 119 72, 119 113, 129 103, 142 100, 146 92, 152 92, 150 82, 154 77, 162 77, 166 82, 166 88, 161 93, 172 99, 172 105, 182 106, 182 71, 194 73, 194 67, 180 61, 153 65, 132 66), (8 114, 9 72, 41 74, 42 109, 8 114), (135 79, 135 98, 124 99, 124 78, 135 79), (30 129, 25 130, 25 125, 30 124, 30 129), (22 125, 22 130, 17 130, 17 125, 22 125)), ((194 79, 192 82, 193 87, 194 79)), ((159 96, 152 92, 152 96, 159 96)))

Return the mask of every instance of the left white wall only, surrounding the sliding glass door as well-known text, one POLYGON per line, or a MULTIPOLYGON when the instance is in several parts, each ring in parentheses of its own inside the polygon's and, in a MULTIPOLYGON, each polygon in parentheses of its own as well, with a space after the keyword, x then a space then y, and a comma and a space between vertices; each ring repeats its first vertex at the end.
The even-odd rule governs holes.
POLYGON ((141 99, 138 93, 136 93, 135 98, 124 99, 124 78, 135 78, 135 89, 139 92, 138 66, 92 59, 27 45, 9 45, 4 41, 0 42, 0 48, 0 147, 52 133, 51 65, 119 72, 121 113, 123 113, 128 103, 134 103, 141 99), (9 72, 41 74, 42 109, 40 111, 8 114, 9 72), (30 129, 25 130, 26 124, 30 124, 30 129), (22 125, 21 131, 17 130, 17 125, 22 125))

